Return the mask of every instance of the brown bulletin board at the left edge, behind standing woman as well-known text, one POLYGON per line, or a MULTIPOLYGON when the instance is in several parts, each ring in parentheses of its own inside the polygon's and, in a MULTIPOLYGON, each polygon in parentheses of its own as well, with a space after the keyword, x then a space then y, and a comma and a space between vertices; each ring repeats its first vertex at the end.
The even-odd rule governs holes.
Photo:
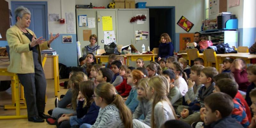
POLYGON ((0 16, 1 16, 1 27, 0 34, 2 38, 0 40, 6 40, 6 31, 10 28, 10 17, 9 17, 9 6, 5 0, 0 0, 0 16))

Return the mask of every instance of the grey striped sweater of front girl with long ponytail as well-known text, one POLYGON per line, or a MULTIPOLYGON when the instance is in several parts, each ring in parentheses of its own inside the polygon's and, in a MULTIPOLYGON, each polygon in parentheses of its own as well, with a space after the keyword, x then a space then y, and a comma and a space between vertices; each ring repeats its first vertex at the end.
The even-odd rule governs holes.
POLYGON ((116 105, 109 104, 103 109, 100 108, 96 122, 91 128, 124 128, 119 109, 116 108, 116 105))

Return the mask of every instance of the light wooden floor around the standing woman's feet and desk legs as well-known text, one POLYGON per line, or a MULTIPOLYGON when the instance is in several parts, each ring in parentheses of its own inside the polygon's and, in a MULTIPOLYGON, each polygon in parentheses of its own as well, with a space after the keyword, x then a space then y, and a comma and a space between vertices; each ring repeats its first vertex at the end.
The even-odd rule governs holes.
MULTIPOLYGON (((60 82, 64 82, 67 79, 61 79, 60 82)), ((48 110, 55 108, 54 101, 54 80, 47 79, 47 88, 46 95, 47 101, 45 106, 45 114, 48 115, 48 110)), ((60 98, 61 94, 65 94, 67 89, 60 87, 60 92, 58 92, 58 97, 60 98)), ((0 92, 0 106, 11 105, 12 104, 12 95, 11 88, 6 91, 0 92)), ((22 109, 20 112, 21 115, 27 115, 27 109, 22 109)), ((9 116, 15 115, 15 110, 4 110, 3 107, 0 107, 0 116, 9 116)), ((55 125, 49 125, 45 121, 44 123, 34 123, 28 122, 28 119, 11 119, 11 120, 0 120, 0 128, 56 128, 55 125)))

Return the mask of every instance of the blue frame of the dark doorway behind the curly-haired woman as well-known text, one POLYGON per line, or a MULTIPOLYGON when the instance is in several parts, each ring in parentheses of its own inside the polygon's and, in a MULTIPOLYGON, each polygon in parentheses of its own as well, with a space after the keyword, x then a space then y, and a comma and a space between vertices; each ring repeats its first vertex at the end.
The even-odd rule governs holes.
MULTIPOLYGON (((170 35, 172 37, 172 43, 174 45, 174 49, 175 49, 175 45, 176 45, 176 37, 175 37, 175 6, 146 6, 146 8, 158 8, 158 9, 163 9, 163 8, 167 8, 167 9, 171 9, 171 19, 172 19, 172 23, 171 23, 171 30, 172 30, 172 34, 170 35)), ((178 42, 179 43, 179 42, 178 42)))

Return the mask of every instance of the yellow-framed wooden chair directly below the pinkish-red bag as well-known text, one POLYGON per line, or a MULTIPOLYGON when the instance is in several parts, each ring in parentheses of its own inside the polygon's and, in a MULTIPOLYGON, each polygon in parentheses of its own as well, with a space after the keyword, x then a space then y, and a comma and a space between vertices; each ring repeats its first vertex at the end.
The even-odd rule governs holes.
POLYGON ((204 60, 207 62, 207 66, 212 67, 212 63, 215 63, 215 68, 219 70, 219 63, 217 61, 216 52, 213 49, 204 49, 204 60))

